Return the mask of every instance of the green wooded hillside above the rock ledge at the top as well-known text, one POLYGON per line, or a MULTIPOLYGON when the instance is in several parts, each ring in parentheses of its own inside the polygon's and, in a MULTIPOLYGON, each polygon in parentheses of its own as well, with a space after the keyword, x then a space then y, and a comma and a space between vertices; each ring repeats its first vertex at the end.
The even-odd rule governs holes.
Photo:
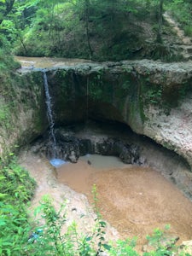
POLYGON ((175 40, 163 13, 191 36, 191 5, 190 0, 0 0, 0 44, 15 55, 161 59, 175 40))

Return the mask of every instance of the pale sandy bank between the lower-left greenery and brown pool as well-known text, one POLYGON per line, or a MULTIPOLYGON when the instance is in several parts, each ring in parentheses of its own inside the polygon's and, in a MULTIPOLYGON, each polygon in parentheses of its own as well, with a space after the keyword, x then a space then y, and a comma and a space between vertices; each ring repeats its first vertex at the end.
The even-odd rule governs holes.
MULTIPOLYGON (((91 236, 96 226, 96 214, 90 206, 87 197, 70 189, 64 183, 60 183, 56 178, 55 168, 49 164, 48 160, 37 154, 24 151, 20 154, 19 162, 21 166, 26 168, 31 177, 36 180, 38 185, 29 208, 34 225, 38 224, 40 217, 39 214, 35 218, 34 211, 39 206, 44 195, 49 195, 49 198, 53 200, 52 204, 56 211, 60 210, 61 204, 64 203, 66 206, 63 212, 66 213, 67 219, 63 232, 75 221, 79 234, 91 236)), ((40 219, 40 224, 42 223, 44 222, 40 219)), ((106 241, 114 241, 119 237, 119 232, 107 223, 106 241)))

